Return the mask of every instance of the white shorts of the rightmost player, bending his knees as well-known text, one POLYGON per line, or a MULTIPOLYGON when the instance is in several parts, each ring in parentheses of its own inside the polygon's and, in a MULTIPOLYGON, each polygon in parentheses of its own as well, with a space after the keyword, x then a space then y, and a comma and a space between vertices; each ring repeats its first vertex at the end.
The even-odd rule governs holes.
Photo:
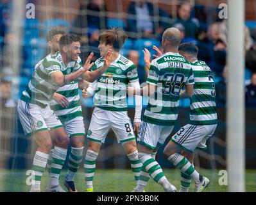
POLYGON ((203 126, 187 124, 173 135, 171 141, 189 152, 194 152, 196 148, 207 149, 206 141, 214 134, 216 127, 217 124, 203 126))

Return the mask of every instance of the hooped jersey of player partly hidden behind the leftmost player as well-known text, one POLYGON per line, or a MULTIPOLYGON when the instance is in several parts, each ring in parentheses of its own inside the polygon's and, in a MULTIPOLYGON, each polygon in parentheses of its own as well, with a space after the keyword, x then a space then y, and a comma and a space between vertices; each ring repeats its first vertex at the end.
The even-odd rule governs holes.
MULTIPOLYGON (((81 65, 81 59, 78 58, 77 63, 81 65)), ((50 102, 51 110, 55 112, 62 122, 74 119, 78 116, 82 117, 81 111, 81 99, 78 92, 78 80, 69 83, 68 85, 64 85, 56 91, 56 93, 64 95, 69 101, 69 107, 63 108, 56 102, 52 100, 50 102)))

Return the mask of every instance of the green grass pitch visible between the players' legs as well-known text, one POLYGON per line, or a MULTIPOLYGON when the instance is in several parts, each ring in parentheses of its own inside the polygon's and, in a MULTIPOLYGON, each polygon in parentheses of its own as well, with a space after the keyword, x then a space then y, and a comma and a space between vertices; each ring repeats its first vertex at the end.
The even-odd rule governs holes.
MULTIPOLYGON (((30 186, 26 184, 27 170, 0 170, 0 192, 29 192, 30 186)), ((66 170, 62 171, 60 184, 63 186, 66 170)), ((210 184, 205 192, 227 192, 228 186, 219 185, 218 170, 200 169, 200 173, 209 177, 210 184)), ((177 188, 180 187, 180 172, 175 169, 164 169, 164 174, 177 188)), ((83 169, 81 168, 75 177, 75 184, 79 192, 85 190, 83 169)), ((48 181, 48 173, 44 172, 41 188, 45 190, 48 181)), ((96 169, 94 176, 94 192, 131 192, 135 187, 132 170, 129 169, 96 169)), ((194 188, 191 183, 190 192, 194 188)), ((145 188, 146 192, 163 192, 160 185, 152 179, 145 188)), ((256 192, 256 170, 246 170, 246 192, 256 192)))

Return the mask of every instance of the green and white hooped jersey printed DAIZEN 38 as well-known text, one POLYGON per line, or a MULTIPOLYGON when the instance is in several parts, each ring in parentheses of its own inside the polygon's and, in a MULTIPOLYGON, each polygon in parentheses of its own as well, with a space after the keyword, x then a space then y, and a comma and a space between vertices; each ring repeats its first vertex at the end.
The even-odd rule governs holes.
POLYGON ((178 53, 165 53, 151 62, 147 83, 157 86, 157 92, 154 99, 149 98, 144 122, 173 126, 178 117, 180 90, 194 84, 189 61, 178 53))

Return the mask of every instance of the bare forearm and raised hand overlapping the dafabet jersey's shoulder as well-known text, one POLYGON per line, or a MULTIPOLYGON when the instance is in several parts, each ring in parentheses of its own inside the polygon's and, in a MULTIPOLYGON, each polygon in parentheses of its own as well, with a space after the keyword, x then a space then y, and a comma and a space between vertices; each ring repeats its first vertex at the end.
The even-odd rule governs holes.
POLYGON ((111 50, 109 50, 108 53, 106 54, 105 58, 104 58, 103 66, 99 69, 94 70, 94 71, 85 72, 83 74, 83 79, 92 83, 97 78, 99 78, 99 76, 101 76, 108 69, 108 67, 110 67, 112 54, 113 54, 113 52, 111 50))

